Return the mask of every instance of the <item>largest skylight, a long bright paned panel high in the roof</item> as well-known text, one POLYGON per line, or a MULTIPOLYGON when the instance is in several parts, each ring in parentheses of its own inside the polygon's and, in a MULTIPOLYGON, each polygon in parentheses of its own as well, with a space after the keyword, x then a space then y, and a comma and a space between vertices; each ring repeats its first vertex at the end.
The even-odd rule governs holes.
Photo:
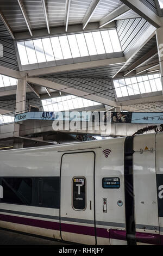
POLYGON ((116 29, 17 42, 22 65, 122 52, 116 29))

